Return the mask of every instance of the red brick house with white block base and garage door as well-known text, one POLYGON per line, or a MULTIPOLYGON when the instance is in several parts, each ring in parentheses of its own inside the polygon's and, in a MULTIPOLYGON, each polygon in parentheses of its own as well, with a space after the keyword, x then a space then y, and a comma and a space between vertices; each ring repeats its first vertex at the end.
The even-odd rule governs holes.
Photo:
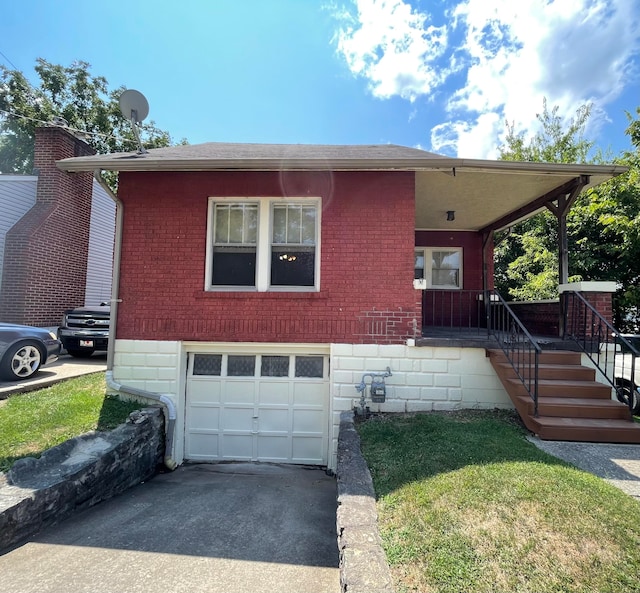
POLYGON ((330 468, 364 373, 390 369, 383 411, 512 405, 484 349, 423 327, 480 311, 493 231, 620 172, 218 143, 58 167, 120 172, 109 378, 172 402, 172 457, 330 468))

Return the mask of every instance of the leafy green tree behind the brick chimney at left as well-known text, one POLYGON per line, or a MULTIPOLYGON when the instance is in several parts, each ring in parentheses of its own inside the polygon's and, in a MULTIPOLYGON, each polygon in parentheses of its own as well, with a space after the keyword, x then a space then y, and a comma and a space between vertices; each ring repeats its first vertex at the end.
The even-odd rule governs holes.
MULTIPOLYGON (((39 83, 32 85, 22 72, 0 66, 0 172, 30 174, 35 129, 54 118, 86 133, 87 143, 99 153, 137 150, 118 105, 125 87, 109 90, 107 80, 90 68, 82 61, 61 66, 38 58, 39 83)), ((146 148, 172 144, 169 133, 153 121, 141 126, 140 135, 146 148)))

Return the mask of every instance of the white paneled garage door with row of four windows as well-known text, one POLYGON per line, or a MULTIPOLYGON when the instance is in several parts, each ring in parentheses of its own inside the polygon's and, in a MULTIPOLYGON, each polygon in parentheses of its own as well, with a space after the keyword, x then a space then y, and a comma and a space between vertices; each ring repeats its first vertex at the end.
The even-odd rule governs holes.
POLYGON ((190 353, 185 458, 327 464, 329 359, 190 353))

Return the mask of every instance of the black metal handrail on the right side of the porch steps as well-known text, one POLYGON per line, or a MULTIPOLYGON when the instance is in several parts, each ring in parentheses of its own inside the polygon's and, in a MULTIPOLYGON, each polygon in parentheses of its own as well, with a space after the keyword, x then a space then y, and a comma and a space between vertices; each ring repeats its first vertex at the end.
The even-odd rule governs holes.
MULTIPOLYGON (((636 359, 640 356, 638 349, 580 293, 567 291, 564 297, 565 339, 571 339, 579 346, 618 395, 624 389, 627 374, 630 377, 631 389, 634 389, 636 359), (625 356, 623 347, 631 356, 625 356)), ((624 398, 618 399, 623 401, 624 398)), ((628 404, 633 417, 633 397, 628 398, 628 404)))

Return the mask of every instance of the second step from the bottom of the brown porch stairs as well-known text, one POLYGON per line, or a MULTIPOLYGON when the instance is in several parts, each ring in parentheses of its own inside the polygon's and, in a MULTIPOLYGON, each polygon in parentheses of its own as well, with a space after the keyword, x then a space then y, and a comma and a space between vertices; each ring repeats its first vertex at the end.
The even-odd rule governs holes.
MULTIPOLYGON (((518 413, 533 415, 533 400, 528 395, 517 396, 518 413)), ((631 419, 629 408, 612 399, 593 399, 581 397, 540 397, 538 398, 538 415, 566 418, 608 418, 631 419)))

